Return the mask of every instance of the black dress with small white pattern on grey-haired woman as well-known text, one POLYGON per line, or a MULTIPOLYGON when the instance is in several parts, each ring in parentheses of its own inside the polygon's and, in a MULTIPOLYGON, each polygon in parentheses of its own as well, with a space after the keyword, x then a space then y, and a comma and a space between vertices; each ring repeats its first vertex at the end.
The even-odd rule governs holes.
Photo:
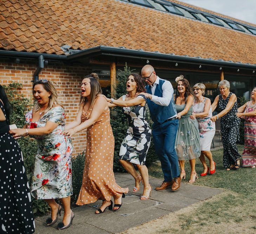
MULTIPOLYGON (((228 97, 224 100, 222 95, 219 95, 218 106, 220 111, 223 111, 229 98, 233 93, 229 93, 228 97)), ((237 101, 230 111, 221 117, 221 135, 223 143, 223 166, 228 168, 230 165, 236 164, 235 161, 241 157, 238 152, 236 142, 239 140, 239 126, 240 120, 237 118, 237 101)))

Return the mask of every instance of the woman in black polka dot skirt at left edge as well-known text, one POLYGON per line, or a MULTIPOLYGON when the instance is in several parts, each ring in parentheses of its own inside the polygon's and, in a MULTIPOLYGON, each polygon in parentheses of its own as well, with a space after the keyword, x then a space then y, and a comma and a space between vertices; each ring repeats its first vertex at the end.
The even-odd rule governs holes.
POLYGON ((34 233, 31 197, 21 149, 8 133, 10 111, 11 106, 0 85, 0 233, 34 233))

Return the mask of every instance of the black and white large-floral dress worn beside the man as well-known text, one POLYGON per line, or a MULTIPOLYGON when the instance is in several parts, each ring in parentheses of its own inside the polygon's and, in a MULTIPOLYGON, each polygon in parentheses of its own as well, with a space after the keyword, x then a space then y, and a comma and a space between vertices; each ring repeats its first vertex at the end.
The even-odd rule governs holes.
MULTIPOLYGON (((123 95, 123 101, 125 96, 123 95)), ((138 95, 138 97, 146 100, 144 95, 138 95)), ((123 107, 123 113, 128 119, 129 128, 120 147, 119 159, 145 165, 151 141, 151 128, 145 120, 146 107, 140 105, 123 107)))

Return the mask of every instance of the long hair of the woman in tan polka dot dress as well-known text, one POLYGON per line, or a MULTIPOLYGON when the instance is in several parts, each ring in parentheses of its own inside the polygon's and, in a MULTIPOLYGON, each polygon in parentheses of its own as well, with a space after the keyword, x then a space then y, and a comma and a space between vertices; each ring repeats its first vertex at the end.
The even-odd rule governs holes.
MULTIPOLYGON (((101 91, 101 87, 100 87, 100 83, 99 83, 99 76, 97 75, 97 73, 91 73, 90 75, 86 75, 84 77, 85 78, 88 78, 90 79, 90 86, 91 86, 91 93, 90 93, 90 97, 91 97, 91 105, 89 106, 89 109, 90 110, 94 103, 95 103, 95 100, 96 98, 102 94, 102 91, 101 91)), ((83 103, 83 106, 85 106, 87 102, 87 98, 86 97, 83 97, 81 95, 81 98, 80 98, 80 104, 83 103)))

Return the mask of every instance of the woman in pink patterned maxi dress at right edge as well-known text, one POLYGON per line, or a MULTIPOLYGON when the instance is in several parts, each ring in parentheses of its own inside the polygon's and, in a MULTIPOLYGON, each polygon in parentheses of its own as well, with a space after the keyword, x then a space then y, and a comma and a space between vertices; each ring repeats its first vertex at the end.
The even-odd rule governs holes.
POLYGON ((244 150, 242 167, 256 167, 256 87, 251 92, 252 100, 238 108, 237 117, 245 119, 244 150))

